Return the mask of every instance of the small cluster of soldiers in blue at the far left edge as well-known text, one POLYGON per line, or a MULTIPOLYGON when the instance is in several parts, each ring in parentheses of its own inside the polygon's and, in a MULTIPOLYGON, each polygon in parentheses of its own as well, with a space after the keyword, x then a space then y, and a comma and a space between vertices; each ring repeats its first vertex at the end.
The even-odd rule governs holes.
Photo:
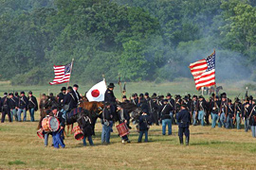
POLYGON ((9 122, 16 121, 21 122, 27 121, 27 110, 30 114, 30 121, 34 122, 34 112, 38 110, 38 104, 36 97, 31 91, 28 95, 25 92, 19 93, 4 93, 4 96, 0 98, 0 111, 2 112, 1 123, 5 122, 6 115, 9 116, 9 122), (24 114, 23 119, 22 115, 24 114))

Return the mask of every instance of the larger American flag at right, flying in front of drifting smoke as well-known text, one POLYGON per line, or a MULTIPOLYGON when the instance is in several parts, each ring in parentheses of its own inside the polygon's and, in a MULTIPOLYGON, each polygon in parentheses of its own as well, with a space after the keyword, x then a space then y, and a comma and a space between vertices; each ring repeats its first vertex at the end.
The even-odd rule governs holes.
POLYGON ((207 59, 190 64, 196 90, 215 85, 215 50, 207 59))

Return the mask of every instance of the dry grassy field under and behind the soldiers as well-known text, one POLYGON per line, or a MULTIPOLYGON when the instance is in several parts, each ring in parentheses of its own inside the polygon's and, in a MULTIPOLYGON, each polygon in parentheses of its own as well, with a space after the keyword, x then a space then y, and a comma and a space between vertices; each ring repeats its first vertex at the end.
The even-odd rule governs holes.
MULTIPOLYGON (((238 83, 237 83, 238 84, 238 83)), ((231 97, 245 93, 243 84, 229 85, 231 97)), ((58 93, 61 86, 11 87, 2 83, 1 92, 32 90, 39 93, 58 93)), ((227 84, 222 84, 224 89, 227 84)), ((82 86, 84 93, 91 85, 82 86)), ((227 85, 228 86, 228 85, 227 85)), ((1 93, 0 92, 0 93, 1 93)), ((197 93, 192 82, 173 83, 131 83, 128 93, 197 93)), ((118 88, 115 93, 119 96, 118 88)), ((255 92, 249 92, 255 94, 255 92)), ((128 94, 129 95, 129 94, 128 94)), ((36 119, 39 119, 36 113, 36 119)), ((29 120, 29 115, 27 116, 29 120)), ((161 127, 149 130, 149 143, 137 144, 137 131, 132 126, 129 136, 131 144, 121 144, 114 127, 111 144, 101 145, 101 124, 96 126, 95 146, 83 147, 73 135, 65 139, 66 148, 45 147, 44 141, 36 135, 38 122, 0 124, 0 169, 255 169, 256 139, 244 129, 191 127, 191 144, 181 146, 177 127, 172 136, 162 136, 161 127)), ((51 137, 49 144, 51 143, 51 137)))

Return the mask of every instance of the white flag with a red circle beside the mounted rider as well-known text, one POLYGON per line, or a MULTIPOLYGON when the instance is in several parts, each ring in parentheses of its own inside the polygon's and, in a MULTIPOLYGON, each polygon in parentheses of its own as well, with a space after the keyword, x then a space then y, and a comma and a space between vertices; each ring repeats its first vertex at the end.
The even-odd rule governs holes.
POLYGON ((89 100, 89 102, 91 102, 91 101, 98 101, 98 102, 104 101, 104 94, 105 94, 106 90, 107 90, 107 88, 106 88, 105 79, 103 79, 101 82, 94 85, 86 93, 86 97, 89 100))

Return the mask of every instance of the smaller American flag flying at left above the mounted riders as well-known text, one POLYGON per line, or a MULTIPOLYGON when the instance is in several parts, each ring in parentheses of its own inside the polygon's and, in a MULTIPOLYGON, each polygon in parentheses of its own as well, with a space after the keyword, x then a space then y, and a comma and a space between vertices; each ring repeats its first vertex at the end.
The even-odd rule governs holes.
POLYGON ((68 63, 66 65, 54 65, 53 69, 54 69, 55 77, 54 77, 53 81, 50 82, 49 84, 53 85, 53 84, 66 83, 70 79, 70 73, 72 70, 72 62, 68 63))

